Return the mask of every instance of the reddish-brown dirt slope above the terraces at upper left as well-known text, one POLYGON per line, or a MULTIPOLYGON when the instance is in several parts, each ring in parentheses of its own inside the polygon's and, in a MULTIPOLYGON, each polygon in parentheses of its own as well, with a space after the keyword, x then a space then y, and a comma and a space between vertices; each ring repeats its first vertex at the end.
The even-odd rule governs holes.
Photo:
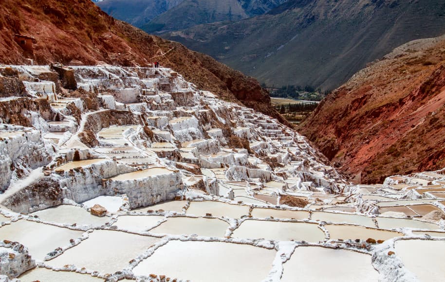
POLYGON ((30 35, 37 40, 30 57, 37 64, 149 66, 159 61, 199 88, 229 101, 246 101, 248 106, 279 117, 267 91, 255 79, 179 43, 115 20, 91 0, 2 0, 1 8, 0 63, 26 63, 14 35, 30 35))

